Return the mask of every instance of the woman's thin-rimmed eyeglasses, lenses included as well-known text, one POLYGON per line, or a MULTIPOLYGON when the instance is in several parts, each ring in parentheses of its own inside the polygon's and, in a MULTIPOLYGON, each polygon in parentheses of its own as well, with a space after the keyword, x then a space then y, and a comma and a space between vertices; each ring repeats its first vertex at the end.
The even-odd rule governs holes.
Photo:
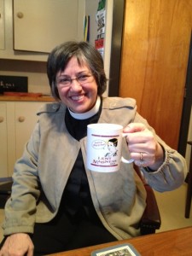
POLYGON ((61 76, 56 79, 58 87, 68 87, 72 84, 73 80, 76 80, 79 84, 89 84, 93 81, 94 77, 92 73, 80 73, 77 77, 70 78, 67 76, 61 76))

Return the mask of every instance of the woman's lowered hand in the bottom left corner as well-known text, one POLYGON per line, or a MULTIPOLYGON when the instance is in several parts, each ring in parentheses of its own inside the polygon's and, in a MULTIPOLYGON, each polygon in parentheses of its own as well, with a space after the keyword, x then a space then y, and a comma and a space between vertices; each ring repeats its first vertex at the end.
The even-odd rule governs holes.
POLYGON ((0 251, 0 256, 32 256, 34 246, 29 235, 16 233, 8 236, 0 251))

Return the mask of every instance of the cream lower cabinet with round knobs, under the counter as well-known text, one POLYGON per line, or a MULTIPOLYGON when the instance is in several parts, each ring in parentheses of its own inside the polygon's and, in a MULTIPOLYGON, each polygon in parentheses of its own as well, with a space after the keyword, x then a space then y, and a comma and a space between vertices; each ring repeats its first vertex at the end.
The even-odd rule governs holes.
POLYGON ((11 176, 44 102, 0 102, 0 177, 11 176))

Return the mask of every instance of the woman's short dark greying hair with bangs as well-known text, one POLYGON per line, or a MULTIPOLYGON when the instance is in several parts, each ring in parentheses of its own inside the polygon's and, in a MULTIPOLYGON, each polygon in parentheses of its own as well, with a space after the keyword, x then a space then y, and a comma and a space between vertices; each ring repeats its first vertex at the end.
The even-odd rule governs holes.
POLYGON ((56 46, 49 54, 47 75, 52 95, 56 100, 61 100, 55 81, 56 74, 65 70, 68 61, 70 61, 73 56, 77 58, 79 66, 85 64, 90 68, 90 72, 93 73, 96 79, 97 94, 102 96, 102 93, 107 87, 107 78, 104 72, 102 55, 91 44, 74 41, 56 46))

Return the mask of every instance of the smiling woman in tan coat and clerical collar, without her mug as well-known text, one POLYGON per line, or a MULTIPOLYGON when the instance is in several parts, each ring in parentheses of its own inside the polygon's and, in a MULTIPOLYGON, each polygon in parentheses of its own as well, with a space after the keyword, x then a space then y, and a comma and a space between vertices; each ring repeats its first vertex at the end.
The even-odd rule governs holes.
MULTIPOLYGON (((0 256, 38 256, 140 236, 146 190, 132 162, 161 192, 177 189, 186 175, 183 157, 137 113, 134 99, 102 96, 107 78, 93 46, 55 47, 47 73, 57 102, 40 109, 15 163, 0 256), (122 155, 131 157, 129 165, 123 162, 115 172, 91 171, 87 126, 97 123, 123 127, 122 155)), ((105 150, 114 153, 116 144, 106 143, 105 150)))

